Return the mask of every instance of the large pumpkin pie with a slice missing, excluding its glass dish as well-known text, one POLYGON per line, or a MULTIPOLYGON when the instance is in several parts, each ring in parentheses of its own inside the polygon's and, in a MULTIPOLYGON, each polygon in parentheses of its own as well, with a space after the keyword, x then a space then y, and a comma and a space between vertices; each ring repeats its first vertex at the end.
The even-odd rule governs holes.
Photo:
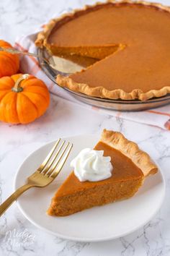
POLYGON ((170 8, 161 4, 108 1, 51 20, 39 47, 53 55, 97 61, 58 85, 100 98, 146 101, 170 93, 170 8))

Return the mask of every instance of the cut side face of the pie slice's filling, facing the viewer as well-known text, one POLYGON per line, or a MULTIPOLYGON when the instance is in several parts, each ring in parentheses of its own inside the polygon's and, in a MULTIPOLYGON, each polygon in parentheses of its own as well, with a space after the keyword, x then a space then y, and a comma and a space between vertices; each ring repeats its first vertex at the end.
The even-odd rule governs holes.
POLYGON ((48 214, 50 216, 68 216, 94 206, 125 200, 133 197, 142 183, 142 179, 133 179, 126 182, 115 182, 114 186, 107 184, 101 187, 93 187, 88 191, 86 190, 85 193, 82 191, 79 194, 58 197, 53 199, 48 214))

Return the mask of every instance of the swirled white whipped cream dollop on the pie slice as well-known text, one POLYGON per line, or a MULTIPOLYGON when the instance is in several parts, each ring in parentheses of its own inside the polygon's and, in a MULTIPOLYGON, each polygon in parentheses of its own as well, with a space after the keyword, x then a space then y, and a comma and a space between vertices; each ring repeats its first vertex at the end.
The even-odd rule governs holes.
POLYGON ((80 182, 98 182, 112 176, 112 163, 109 156, 103 156, 103 150, 84 148, 71 161, 74 174, 80 182))

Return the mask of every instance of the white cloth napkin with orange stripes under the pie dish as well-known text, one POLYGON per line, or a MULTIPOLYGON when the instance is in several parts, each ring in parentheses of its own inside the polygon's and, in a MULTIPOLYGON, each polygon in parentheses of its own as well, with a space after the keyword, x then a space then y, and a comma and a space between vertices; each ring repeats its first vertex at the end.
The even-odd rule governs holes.
MULTIPOLYGON (((40 30, 40 29, 39 29, 40 30)), ((42 30, 42 27, 41 27, 42 30)), ((30 53, 36 53, 36 47, 34 44, 35 38, 37 37, 37 32, 32 35, 24 35, 22 37, 17 38, 16 43, 14 45, 20 51, 29 51, 30 53)), ((97 111, 98 113, 109 114, 110 116, 121 117, 122 119, 128 119, 132 121, 137 121, 143 124, 149 124, 156 127, 161 127, 162 129, 170 130, 170 105, 163 106, 161 108, 152 108, 151 110, 146 111, 138 111, 138 112, 121 112, 121 111, 111 111, 103 108, 97 108, 94 106, 86 105, 77 101, 73 96, 68 94, 65 90, 56 86, 40 69, 38 61, 35 57, 32 56, 21 56, 21 72, 33 74, 36 77, 40 78, 45 82, 50 90, 50 93, 54 93, 59 97, 65 98, 68 101, 72 101, 75 103, 81 104, 86 108, 90 108, 93 111, 97 111)))

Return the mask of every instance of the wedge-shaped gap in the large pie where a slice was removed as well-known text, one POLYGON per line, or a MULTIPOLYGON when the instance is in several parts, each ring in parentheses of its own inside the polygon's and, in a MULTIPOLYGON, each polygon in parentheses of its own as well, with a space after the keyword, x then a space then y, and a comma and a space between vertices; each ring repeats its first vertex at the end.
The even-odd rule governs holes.
POLYGON ((53 64, 52 67, 54 69, 68 74, 76 74, 90 68, 98 61, 116 54, 117 51, 123 48, 125 48, 125 45, 115 44, 92 47, 58 47, 54 48, 53 51, 48 48, 48 51, 53 56, 55 65, 53 64))

